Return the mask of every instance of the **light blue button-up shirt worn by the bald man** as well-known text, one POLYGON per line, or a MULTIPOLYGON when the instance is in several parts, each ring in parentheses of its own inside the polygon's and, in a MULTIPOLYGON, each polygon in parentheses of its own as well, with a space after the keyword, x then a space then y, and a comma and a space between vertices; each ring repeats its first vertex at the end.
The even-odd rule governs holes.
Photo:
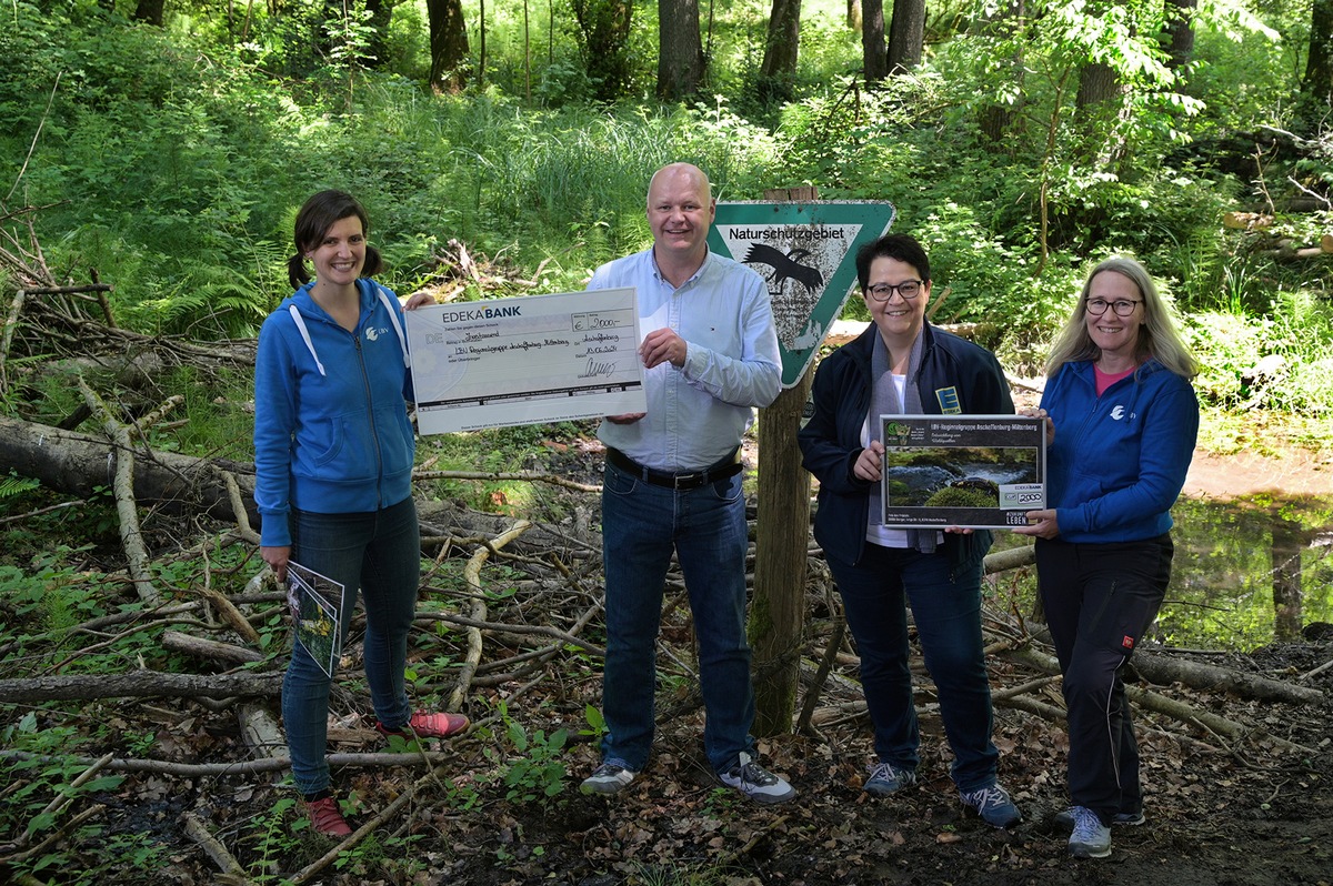
POLYGON ((677 289, 645 249, 603 265, 588 284, 617 286, 639 290, 640 334, 670 326, 685 340, 685 365, 645 369, 648 414, 631 425, 603 421, 597 437, 656 470, 717 464, 740 445, 754 406, 769 405, 781 392, 781 354, 764 278, 709 252, 677 289))

